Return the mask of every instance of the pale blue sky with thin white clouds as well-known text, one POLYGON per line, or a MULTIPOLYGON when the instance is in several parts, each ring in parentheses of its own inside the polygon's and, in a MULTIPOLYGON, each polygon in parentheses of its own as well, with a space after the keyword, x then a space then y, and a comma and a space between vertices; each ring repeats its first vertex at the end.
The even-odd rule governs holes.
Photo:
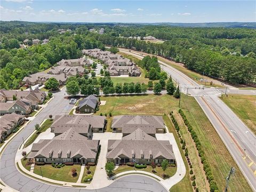
POLYGON ((2 21, 255 22, 256 1, 0 0, 2 21))

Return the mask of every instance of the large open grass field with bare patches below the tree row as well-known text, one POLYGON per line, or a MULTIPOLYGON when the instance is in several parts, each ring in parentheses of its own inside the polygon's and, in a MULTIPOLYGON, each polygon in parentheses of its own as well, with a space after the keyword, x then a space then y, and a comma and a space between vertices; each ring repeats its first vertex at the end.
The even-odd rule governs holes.
POLYGON ((179 100, 172 95, 132 95, 132 96, 101 96, 102 101, 107 101, 106 105, 100 106, 96 115, 105 113, 112 115, 129 114, 169 114, 170 110, 178 109, 179 100))

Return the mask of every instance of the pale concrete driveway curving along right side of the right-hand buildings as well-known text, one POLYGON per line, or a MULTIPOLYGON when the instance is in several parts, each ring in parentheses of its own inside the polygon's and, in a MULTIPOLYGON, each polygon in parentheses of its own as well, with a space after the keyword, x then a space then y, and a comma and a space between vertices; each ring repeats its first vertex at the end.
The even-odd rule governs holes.
MULTIPOLYGON (((167 131, 168 131, 168 129, 166 129, 166 132, 167 131)), ((169 133, 169 131, 164 134, 158 133, 158 134, 156 134, 156 139, 157 140, 168 140, 172 145, 173 153, 176 158, 176 165, 177 165, 176 173, 171 178, 161 181, 162 185, 165 188, 170 189, 173 185, 175 185, 176 183, 181 181, 183 179, 183 177, 185 177, 186 167, 183 162, 182 156, 180 154, 180 150, 177 145, 177 142, 175 141, 175 138, 172 133, 169 133)))

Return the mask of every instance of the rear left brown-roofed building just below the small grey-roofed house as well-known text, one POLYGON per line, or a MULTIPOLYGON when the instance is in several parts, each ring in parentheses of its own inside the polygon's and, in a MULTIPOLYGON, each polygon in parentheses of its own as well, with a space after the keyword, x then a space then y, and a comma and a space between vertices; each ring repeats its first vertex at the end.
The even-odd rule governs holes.
POLYGON ((73 128, 77 133, 92 139, 93 132, 103 132, 106 119, 98 115, 57 115, 51 125, 51 132, 55 136, 73 128))

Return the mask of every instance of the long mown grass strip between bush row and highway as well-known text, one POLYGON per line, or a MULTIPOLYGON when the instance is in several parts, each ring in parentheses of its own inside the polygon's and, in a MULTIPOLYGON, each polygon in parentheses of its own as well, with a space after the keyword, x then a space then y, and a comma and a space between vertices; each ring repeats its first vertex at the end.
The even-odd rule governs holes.
MULTIPOLYGON (((197 134, 205 157, 211 166, 212 174, 217 182, 219 191, 224 191, 226 186, 226 177, 230 167, 234 166, 236 174, 229 181, 230 191, 252 191, 251 187, 239 170, 228 149, 220 139, 218 133, 205 116, 203 110, 192 97, 182 95, 181 108, 185 112, 187 119, 197 134)), ((197 177, 197 175, 196 175, 197 177)))

